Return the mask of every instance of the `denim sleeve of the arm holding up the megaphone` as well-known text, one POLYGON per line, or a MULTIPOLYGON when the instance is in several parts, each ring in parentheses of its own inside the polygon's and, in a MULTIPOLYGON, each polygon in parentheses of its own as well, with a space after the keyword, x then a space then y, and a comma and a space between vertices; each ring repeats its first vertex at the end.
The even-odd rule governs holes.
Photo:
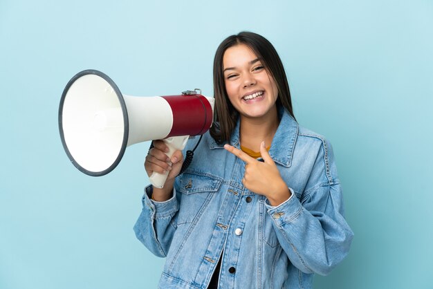
POLYGON ((142 211, 133 227, 137 239, 147 249, 158 257, 166 257, 176 231, 176 213, 178 212, 178 200, 176 189, 173 196, 164 202, 151 200, 152 187, 145 188, 142 197, 142 211))

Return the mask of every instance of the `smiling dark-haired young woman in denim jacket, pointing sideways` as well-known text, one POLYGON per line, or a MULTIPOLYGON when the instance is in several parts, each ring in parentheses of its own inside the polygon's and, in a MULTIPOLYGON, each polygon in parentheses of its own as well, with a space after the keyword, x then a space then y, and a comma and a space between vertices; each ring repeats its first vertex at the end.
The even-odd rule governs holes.
POLYGON ((163 142, 145 160, 148 175, 169 171, 163 189, 145 189, 134 227, 167 257, 159 288, 311 288, 353 237, 329 142, 297 124, 282 62, 255 33, 216 50, 214 97, 183 174, 183 154, 167 159, 163 142))

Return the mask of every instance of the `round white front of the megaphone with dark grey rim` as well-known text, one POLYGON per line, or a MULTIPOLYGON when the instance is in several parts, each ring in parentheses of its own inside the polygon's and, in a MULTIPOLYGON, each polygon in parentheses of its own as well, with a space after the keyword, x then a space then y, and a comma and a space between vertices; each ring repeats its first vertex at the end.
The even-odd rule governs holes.
POLYGON ((66 154, 84 174, 103 176, 122 159, 129 123, 119 88, 100 71, 77 73, 59 105, 59 131, 66 154))

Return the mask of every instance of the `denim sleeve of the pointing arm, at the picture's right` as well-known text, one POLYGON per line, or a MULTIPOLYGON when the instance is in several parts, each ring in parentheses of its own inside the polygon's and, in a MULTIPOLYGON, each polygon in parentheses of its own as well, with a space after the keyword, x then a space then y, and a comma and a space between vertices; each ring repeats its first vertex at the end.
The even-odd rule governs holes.
POLYGON ((276 207, 266 204, 277 238, 302 272, 329 274, 347 256, 353 232, 344 219, 333 153, 325 141, 301 200, 292 197, 276 207))

